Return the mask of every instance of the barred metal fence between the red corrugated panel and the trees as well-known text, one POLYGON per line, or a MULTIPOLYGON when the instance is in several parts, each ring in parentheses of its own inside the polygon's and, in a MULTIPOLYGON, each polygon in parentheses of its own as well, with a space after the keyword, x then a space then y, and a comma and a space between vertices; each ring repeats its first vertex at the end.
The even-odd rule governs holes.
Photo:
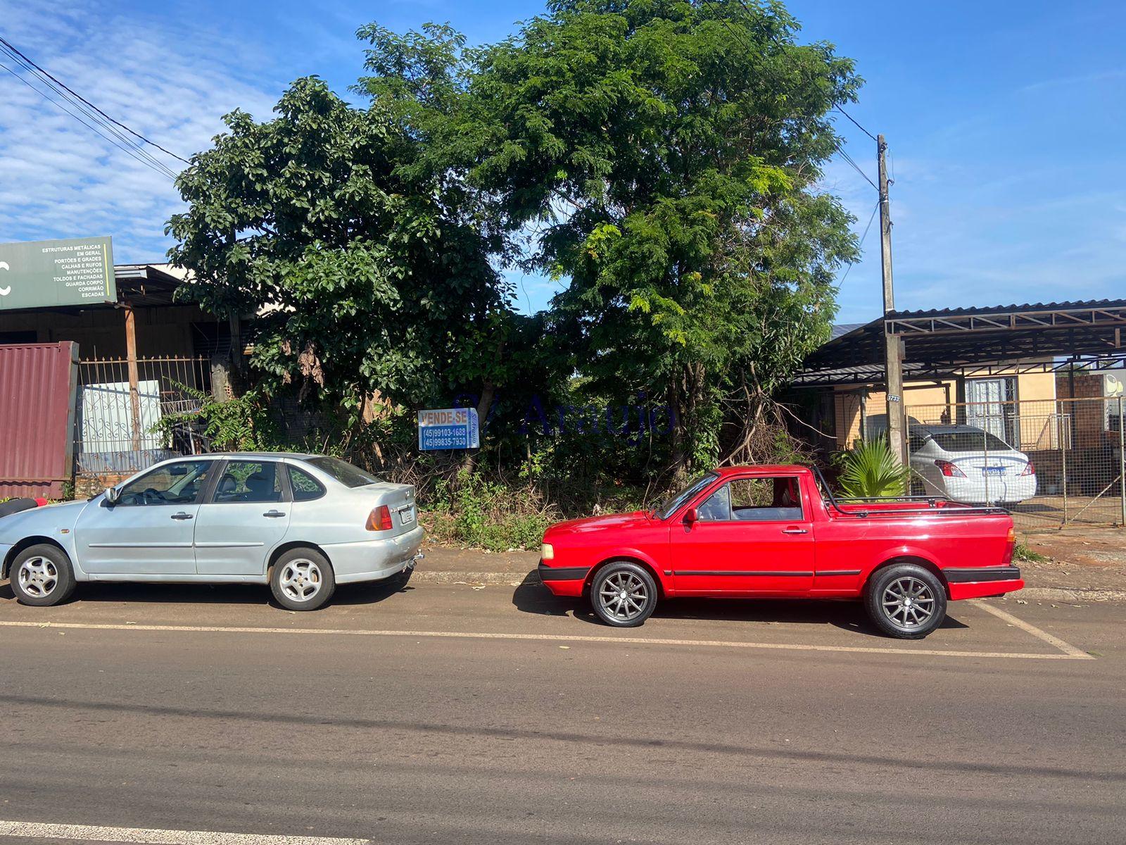
POLYGON ((92 359, 79 363, 75 481, 131 474, 206 444, 182 415, 211 390, 207 358, 92 359))

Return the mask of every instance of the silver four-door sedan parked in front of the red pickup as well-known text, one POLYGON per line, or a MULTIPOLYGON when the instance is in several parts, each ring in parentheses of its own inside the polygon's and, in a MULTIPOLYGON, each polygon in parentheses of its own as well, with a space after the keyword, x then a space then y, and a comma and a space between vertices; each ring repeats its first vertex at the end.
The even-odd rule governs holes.
POLYGON ((421 544, 409 484, 324 455, 199 455, 0 518, 0 578, 38 606, 78 581, 163 581, 269 584, 311 611, 337 584, 409 575, 421 544))

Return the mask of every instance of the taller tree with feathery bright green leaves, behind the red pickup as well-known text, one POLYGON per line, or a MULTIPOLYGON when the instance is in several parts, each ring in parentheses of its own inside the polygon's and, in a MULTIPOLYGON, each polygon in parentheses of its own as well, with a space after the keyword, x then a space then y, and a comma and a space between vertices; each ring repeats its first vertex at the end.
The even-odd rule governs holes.
POLYGON ((468 52, 448 27, 360 32, 363 87, 427 140, 426 170, 464 174, 568 281, 549 333, 590 389, 676 409, 678 471, 759 456, 855 257, 819 180, 859 80, 797 32, 734 0, 556 0, 468 52))

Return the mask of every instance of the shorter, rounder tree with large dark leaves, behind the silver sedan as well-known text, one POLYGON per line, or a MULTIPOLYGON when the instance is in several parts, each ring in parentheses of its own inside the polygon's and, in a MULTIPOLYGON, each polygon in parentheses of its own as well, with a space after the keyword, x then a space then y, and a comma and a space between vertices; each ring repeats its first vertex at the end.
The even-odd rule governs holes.
POLYGON ((177 180, 184 295, 257 315, 270 390, 355 412, 374 391, 417 407, 494 384, 516 318, 491 265, 501 242, 457 181, 417 175, 419 141, 384 103, 355 108, 307 78, 275 112, 227 115, 177 180))

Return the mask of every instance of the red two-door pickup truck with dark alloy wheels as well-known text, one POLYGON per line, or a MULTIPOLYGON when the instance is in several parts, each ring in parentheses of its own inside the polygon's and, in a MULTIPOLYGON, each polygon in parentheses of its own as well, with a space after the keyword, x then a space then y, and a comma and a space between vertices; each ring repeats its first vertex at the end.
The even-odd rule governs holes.
POLYGON ((805 466, 708 472, 653 510, 557 523, 539 577, 632 628, 678 596, 863 598, 885 633, 921 639, 947 601, 1025 582, 1012 517, 940 498, 843 501, 805 466))

